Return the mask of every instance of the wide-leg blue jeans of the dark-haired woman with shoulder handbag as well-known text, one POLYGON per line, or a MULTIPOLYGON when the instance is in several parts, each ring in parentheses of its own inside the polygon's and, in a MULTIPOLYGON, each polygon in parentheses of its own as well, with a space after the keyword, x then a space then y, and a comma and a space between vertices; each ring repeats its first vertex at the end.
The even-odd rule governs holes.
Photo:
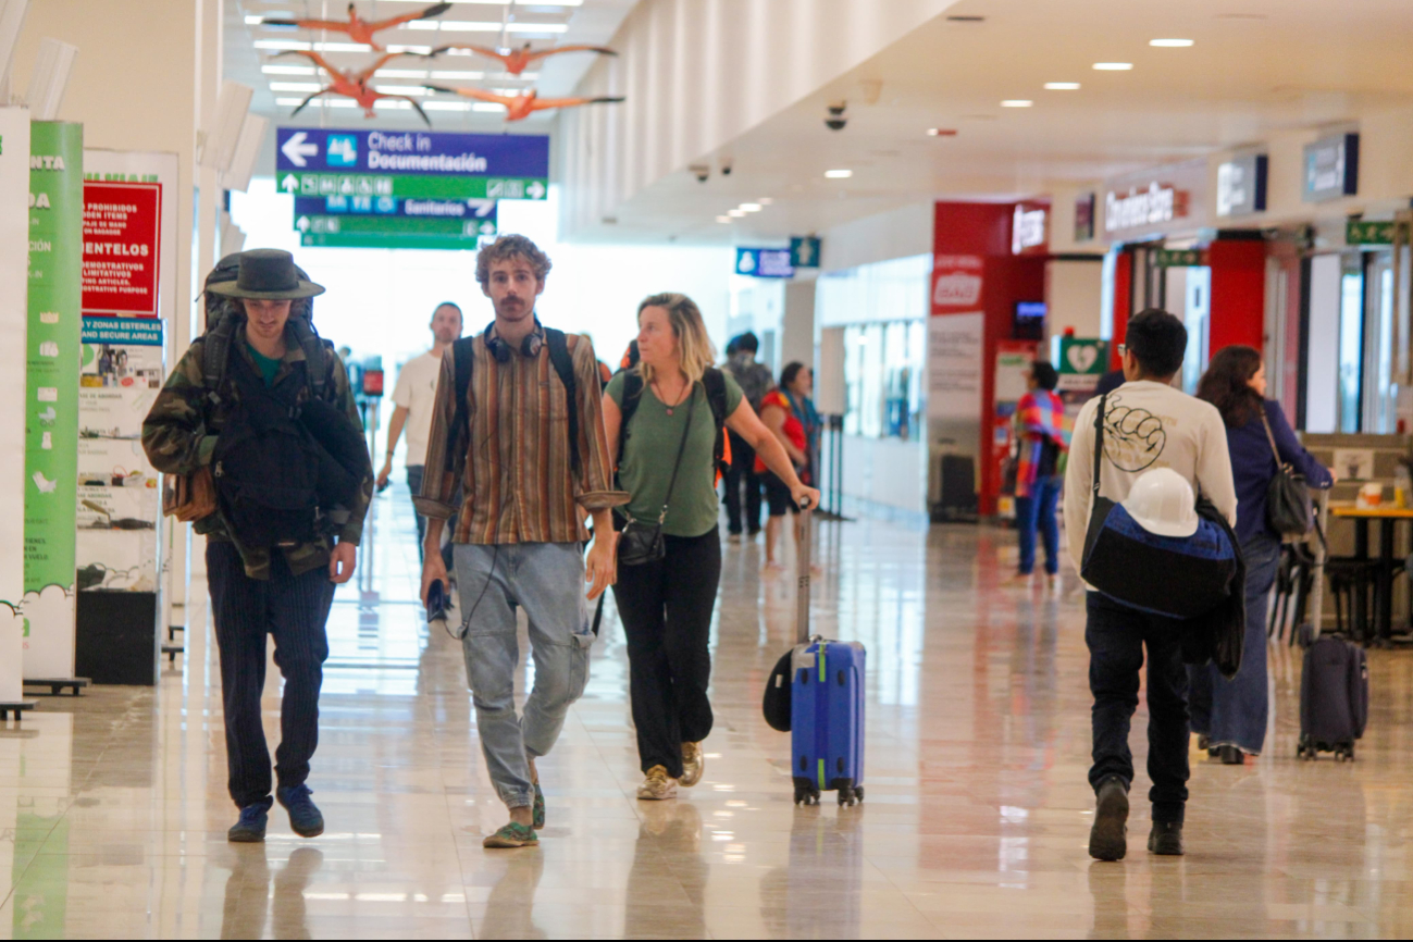
POLYGON ((1246 645, 1242 648, 1241 669, 1228 681, 1215 664, 1188 665, 1188 702, 1193 729, 1205 733, 1212 747, 1236 746, 1243 753, 1259 756, 1266 743, 1270 710, 1266 606, 1280 565, 1280 541, 1258 534, 1242 545, 1241 552, 1246 561, 1246 645))

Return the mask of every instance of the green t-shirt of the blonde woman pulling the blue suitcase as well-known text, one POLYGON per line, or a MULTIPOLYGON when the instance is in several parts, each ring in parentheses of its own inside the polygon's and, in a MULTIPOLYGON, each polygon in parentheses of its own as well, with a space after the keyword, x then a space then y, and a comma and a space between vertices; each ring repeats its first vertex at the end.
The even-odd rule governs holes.
MULTIPOLYGON (((740 405, 742 393, 736 380, 726 377, 726 414, 740 405)), ((609 383, 608 394, 623 408, 623 374, 609 383)), ((711 403, 701 383, 692 390, 692 428, 687 435, 687 449, 682 452, 682 466, 677 472, 673 500, 667 507, 663 532, 670 537, 701 537, 716 525, 716 469, 712 452, 716 446, 716 422, 712 419, 711 403)), ((623 442, 623 462, 619 465, 619 484, 633 499, 627 510, 636 520, 651 523, 663 513, 667 486, 673 477, 673 463, 681 448, 682 429, 691 400, 682 401, 667 414, 650 386, 643 387, 643 398, 633 412, 630 428, 623 442)))

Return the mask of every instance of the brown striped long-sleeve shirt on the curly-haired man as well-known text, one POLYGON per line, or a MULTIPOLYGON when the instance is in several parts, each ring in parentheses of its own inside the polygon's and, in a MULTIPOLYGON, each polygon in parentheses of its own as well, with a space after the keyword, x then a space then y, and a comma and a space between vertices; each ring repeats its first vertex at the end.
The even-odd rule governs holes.
POLYGON ((432 427, 427 445, 427 473, 415 504, 427 517, 447 520, 456 513, 458 484, 463 494, 455 542, 584 542, 588 511, 627 501, 613 490, 613 463, 603 431, 598 359, 584 338, 568 335, 578 401, 579 473, 571 469, 568 403, 564 383, 550 362, 548 345, 537 329, 536 352, 512 349, 499 363, 486 349, 485 335, 472 343, 473 366, 466 391, 471 422, 465 453, 447 455, 448 429, 456 417, 456 367, 452 350, 442 356, 432 427))

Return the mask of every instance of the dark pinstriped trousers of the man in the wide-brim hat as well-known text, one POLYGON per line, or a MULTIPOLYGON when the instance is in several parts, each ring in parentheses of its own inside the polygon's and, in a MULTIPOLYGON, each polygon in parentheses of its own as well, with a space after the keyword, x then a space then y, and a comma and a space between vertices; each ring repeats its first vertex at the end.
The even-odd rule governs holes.
POLYGON ((211 612, 220 648, 227 785, 239 808, 270 798, 270 750, 260 722, 266 634, 274 636, 274 662, 284 676, 274 763, 281 788, 309 777, 309 758, 319 744, 319 686, 329 657, 324 626, 333 583, 326 566, 295 576, 284 554, 271 556, 270 578, 252 579, 233 544, 206 545, 211 612))

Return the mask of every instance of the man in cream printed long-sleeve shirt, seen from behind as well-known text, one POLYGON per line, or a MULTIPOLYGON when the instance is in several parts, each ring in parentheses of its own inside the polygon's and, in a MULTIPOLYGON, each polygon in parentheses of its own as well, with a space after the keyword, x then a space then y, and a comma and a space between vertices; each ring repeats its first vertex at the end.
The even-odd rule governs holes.
MULTIPOLYGON (((1122 501, 1139 476, 1170 467, 1202 494, 1228 523, 1236 523, 1226 429, 1210 403, 1170 386, 1183 367, 1187 329, 1166 311, 1150 308, 1129 321, 1123 347, 1123 386, 1105 400, 1104 455, 1099 493, 1122 501)), ((1075 419, 1065 470, 1064 520, 1070 558, 1084 561, 1094 476, 1094 419, 1099 398, 1089 400, 1075 419)), ((1133 756, 1129 723, 1139 703, 1139 668, 1147 648, 1149 756, 1153 782, 1153 830, 1147 847, 1156 854, 1183 853, 1187 805, 1187 669, 1183 665, 1183 623, 1123 606, 1089 589, 1085 643, 1089 647, 1089 691, 1094 695, 1094 767, 1089 784, 1098 798, 1089 830, 1089 856, 1122 860, 1128 850, 1129 785, 1133 756)))

